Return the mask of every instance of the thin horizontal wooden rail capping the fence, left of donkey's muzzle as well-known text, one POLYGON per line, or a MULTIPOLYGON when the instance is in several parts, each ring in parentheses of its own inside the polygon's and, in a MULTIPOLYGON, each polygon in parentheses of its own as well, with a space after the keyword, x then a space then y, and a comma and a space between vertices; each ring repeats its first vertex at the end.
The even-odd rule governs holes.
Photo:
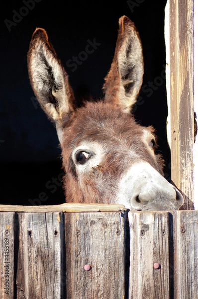
POLYGON ((0 212, 118 212, 126 211, 121 204, 63 203, 59 205, 0 205, 0 212))

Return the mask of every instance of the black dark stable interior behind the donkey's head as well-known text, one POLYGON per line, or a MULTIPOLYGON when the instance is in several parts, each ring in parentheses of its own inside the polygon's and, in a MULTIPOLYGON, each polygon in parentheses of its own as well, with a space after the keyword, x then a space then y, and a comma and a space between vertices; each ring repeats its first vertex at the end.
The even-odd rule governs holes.
POLYGON ((36 27, 46 29, 79 99, 86 94, 102 97, 103 78, 114 54, 118 19, 127 15, 135 22, 145 59, 145 89, 140 94, 142 100, 136 106, 135 115, 142 125, 156 128, 167 164, 165 177, 170 179, 166 82, 162 78, 165 4, 166 0, 15 0, 3 3, 0 12, 1 204, 64 202, 59 182, 62 169, 56 130, 35 100, 28 79, 26 56, 36 27), (31 9, 24 8, 28 5, 31 9), (16 16, 17 13, 21 16, 16 16), (72 67, 66 66, 68 60, 84 51, 87 40, 94 38, 100 45, 72 71, 72 67), (151 82, 158 85, 154 83, 148 91, 151 82))

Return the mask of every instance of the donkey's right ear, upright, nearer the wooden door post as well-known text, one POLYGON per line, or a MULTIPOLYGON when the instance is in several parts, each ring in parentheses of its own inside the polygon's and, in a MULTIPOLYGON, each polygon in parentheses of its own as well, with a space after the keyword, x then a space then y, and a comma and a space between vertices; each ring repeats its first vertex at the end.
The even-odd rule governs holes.
POLYGON ((144 74, 142 44, 134 23, 126 16, 119 19, 115 54, 103 90, 105 101, 130 112, 136 102, 144 74))

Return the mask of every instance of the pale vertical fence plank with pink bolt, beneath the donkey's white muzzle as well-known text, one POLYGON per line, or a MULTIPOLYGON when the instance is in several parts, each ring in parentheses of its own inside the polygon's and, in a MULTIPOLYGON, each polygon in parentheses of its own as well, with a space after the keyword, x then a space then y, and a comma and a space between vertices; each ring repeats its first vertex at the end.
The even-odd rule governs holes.
POLYGON ((168 212, 129 212, 129 299, 169 299, 168 212), (154 264, 160 265, 159 269, 154 264))

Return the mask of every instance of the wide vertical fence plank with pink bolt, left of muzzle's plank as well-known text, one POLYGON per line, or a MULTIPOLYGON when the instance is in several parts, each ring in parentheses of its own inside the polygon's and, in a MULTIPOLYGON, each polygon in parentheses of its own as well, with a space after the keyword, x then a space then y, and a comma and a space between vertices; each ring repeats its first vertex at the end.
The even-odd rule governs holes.
POLYGON ((124 299, 124 213, 67 213, 65 219, 66 298, 124 299))

